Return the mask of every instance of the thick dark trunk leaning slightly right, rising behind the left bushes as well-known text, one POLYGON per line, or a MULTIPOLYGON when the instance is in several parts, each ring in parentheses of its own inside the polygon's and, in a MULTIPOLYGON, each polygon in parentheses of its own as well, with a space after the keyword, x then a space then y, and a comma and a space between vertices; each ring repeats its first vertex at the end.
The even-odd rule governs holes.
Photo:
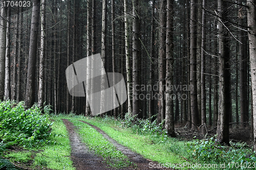
POLYGON ((26 98, 25 98, 25 104, 27 107, 31 107, 35 102, 34 101, 35 72, 36 72, 35 62, 36 62, 36 52, 37 52, 39 13, 40 13, 40 0, 34 0, 33 9, 32 9, 32 19, 31 19, 28 77, 27 77, 27 89, 26 89, 26 98))

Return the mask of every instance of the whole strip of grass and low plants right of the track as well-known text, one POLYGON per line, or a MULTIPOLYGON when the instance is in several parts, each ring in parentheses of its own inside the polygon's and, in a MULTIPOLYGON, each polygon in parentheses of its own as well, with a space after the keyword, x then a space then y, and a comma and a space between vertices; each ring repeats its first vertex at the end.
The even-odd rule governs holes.
POLYGON ((228 147, 216 144, 214 138, 185 141, 161 134, 144 133, 144 127, 138 128, 136 125, 125 128, 121 122, 125 120, 114 120, 109 117, 79 118, 99 127, 110 137, 147 159, 164 165, 181 164, 181 167, 176 166, 177 169, 255 169, 256 167, 255 153, 253 154, 248 147, 239 147, 240 143, 231 143, 231 147, 228 147), (225 168, 221 168, 224 163, 225 168), (217 167, 214 167, 216 165, 217 167), (250 168, 246 168, 249 165, 250 168))

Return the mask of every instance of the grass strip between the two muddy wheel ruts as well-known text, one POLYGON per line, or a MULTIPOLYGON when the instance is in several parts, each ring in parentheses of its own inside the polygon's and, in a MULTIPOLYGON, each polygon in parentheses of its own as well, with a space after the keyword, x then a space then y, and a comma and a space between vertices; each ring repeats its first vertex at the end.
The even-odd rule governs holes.
MULTIPOLYGON (((80 119, 80 117, 79 117, 80 119)), ((84 143, 96 154, 101 155, 106 163, 116 168, 123 168, 132 165, 127 156, 118 151, 113 144, 105 139, 91 126, 70 118, 71 122, 77 127, 77 131, 84 143)))

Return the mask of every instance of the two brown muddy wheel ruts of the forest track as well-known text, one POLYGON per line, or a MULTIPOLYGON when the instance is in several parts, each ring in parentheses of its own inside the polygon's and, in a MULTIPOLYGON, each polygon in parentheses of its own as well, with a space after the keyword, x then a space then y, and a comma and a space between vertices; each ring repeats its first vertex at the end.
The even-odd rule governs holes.
MULTIPOLYGON (((101 170, 101 169, 116 169, 113 167, 110 167, 108 164, 103 163, 103 159, 99 156, 97 156, 93 151, 89 150, 88 147, 84 143, 81 142, 79 135, 75 132, 74 125, 69 122, 68 119, 62 119, 63 123, 66 125, 66 128, 69 132, 69 139, 71 144, 71 159, 73 161, 74 167, 76 167, 77 170, 83 170, 83 169, 91 169, 91 170, 101 170)), ((124 170, 130 170, 130 169, 140 169, 140 170, 146 170, 146 169, 168 169, 168 168, 150 168, 150 162, 157 164, 157 162, 148 160, 143 158, 141 155, 131 151, 129 148, 124 147, 114 139, 112 139, 108 134, 106 134, 104 131, 99 129, 98 127, 91 125, 87 122, 84 122, 80 120, 83 123, 86 123, 96 129, 99 133, 101 133, 107 140, 109 140, 117 150, 121 151, 124 155, 126 155, 130 161, 134 162, 136 164, 135 167, 126 167, 122 168, 124 170)))

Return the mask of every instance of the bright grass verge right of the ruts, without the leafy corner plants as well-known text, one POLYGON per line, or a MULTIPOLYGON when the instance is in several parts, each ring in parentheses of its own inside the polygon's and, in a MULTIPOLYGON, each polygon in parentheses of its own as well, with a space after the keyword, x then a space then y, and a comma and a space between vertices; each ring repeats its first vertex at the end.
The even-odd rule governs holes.
POLYGON ((183 158, 187 153, 185 141, 176 138, 161 140, 159 136, 142 135, 131 128, 122 128, 121 122, 113 119, 94 117, 82 118, 82 120, 99 127, 110 137, 147 159, 161 163, 185 162, 183 158))

